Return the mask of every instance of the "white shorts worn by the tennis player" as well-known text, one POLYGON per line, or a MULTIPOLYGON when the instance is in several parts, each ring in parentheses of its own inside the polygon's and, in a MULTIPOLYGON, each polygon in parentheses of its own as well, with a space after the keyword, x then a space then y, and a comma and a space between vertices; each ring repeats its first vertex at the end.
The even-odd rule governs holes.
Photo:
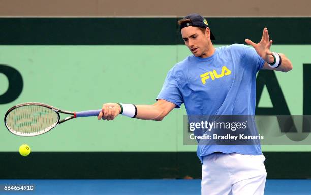
POLYGON ((264 194, 264 155, 213 153, 203 158, 202 195, 264 194))

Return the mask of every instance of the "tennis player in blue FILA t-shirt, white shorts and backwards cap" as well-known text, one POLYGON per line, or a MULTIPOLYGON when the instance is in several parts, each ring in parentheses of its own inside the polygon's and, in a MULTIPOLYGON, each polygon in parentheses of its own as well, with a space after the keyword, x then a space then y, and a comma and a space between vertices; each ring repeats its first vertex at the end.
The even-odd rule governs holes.
MULTIPOLYGON (((188 115, 255 115, 256 73, 261 69, 287 72, 290 60, 270 51, 268 29, 252 47, 233 44, 214 48, 205 18, 190 14, 178 21, 182 39, 193 55, 177 63, 167 74, 153 105, 106 103, 98 119, 118 114, 161 121, 182 103, 188 115), (215 72, 217 75, 211 74, 215 72)), ((230 33, 228 31, 228 33, 230 33)), ((265 157, 260 145, 198 145, 202 162, 202 194, 263 194, 265 157)))

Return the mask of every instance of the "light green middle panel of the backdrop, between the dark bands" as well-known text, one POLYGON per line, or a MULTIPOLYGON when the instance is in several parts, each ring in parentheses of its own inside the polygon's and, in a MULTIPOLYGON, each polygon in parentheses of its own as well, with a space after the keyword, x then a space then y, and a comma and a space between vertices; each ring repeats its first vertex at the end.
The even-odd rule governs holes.
MULTIPOLYGON (((215 45, 220 47, 222 45, 215 45)), ((311 45, 272 45, 293 63, 288 73, 276 72, 291 114, 303 113, 303 64, 311 63, 311 45)), ((166 73, 190 55, 183 45, 1 45, 0 64, 17 69, 23 78, 21 95, 0 104, 0 115, 23 102, 43 102, 60 109, 99 109, 105 102, 152 104, 166 73)), ((0 73, 0 95, 8 80, 0 73)), ((271 101, 264 90, 259 107, 271 101)), ((14 152, 27 143, 33 151, 195 151, 183 145, 183 114, 174 109, 163 121, 119 116, 114 121, 78 118, 36 137, 19 137, 0 126, 0 152, 14 152)), ((65 117, 66 115, 62 115, 65 117)), ((311 146, 263 146, 263 151, 311 151, 311 146)))

